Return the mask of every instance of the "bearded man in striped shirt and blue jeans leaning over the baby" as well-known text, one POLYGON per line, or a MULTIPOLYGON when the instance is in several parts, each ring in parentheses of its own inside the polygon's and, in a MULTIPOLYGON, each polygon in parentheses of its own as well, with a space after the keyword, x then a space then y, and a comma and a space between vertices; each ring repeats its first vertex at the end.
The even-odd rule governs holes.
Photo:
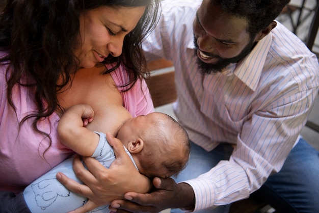
POLYGON ((319 155, 299 136, 317 96, 319 66, 274 21, 287 3, 162 2, 161 21, 143 48, 149 60, 173 61, 174 111, 192 152, 176 179, 184 182, 155 179, 163 190, 128 193, 136 203, 114 201, 117 212, 228 212, 228 204, 259 188, 278 210, 319 212, 319 155))

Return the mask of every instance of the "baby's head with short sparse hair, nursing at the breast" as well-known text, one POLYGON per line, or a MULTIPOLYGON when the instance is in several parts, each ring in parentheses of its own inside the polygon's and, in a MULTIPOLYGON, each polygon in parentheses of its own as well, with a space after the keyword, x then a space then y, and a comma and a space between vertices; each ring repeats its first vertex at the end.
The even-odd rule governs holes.
POLYGON ((176 176, 187 164, 191 149, 183 127, 158 112, 128 120, 117 138, 132 154, 140 173, 149 178, 176 176))

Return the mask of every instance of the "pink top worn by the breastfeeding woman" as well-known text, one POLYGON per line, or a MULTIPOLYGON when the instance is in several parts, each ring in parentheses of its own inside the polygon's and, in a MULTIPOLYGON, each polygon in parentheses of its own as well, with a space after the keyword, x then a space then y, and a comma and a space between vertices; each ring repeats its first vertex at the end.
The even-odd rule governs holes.
MULTIPOLYGON (((0 52, 0 55, 5 54, 0 52)), ((54 113, 41 121, 38 128, 50 132, 52 144, 43 135, 33 131, 31 120, 27 120, 18 131, 21 119, 35 109, 32 99, 28 98, 25 87, 16 85, 13 90, 13 102, 16 113, 7 101, 7 84, 5 78, 7 66, 0 66, 0 191, 21 192, 33 180, 61 163, 73 151, 64 146, 57 136, 59 116, 54 113)), ((112 72, 116 85, 120 86, 128 79, 121 67, 112 72)), ((133 117, 153 112, 153 104, 145 81, 140 81, 128 92, 122 93, 124 107, 133 117), (145 95, 144 95, 145 94, 145 95)))

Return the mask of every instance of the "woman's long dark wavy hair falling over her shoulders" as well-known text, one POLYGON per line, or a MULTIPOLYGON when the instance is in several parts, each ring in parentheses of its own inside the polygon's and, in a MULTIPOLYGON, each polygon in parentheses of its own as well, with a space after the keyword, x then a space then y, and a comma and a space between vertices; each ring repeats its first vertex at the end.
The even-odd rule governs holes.
POLYGON ((20 84, 29 88, 33 95, 30 98, 37 106, 37 112, 24 117, 20 125, 34 118, 33 128, 49 137, 37 128, 37 122, 61 108, 57 92, 68 85, 70 74, 79 64, 73 50, 79 34, 79 15, 84 10, 100 6, 146 6, 136 28, 124 38, 122 55, 108 57, 103 63, 114 64, 105 73, 120 64, 126 66, 130 81, 123 86, 131 87, 147 74, 141 41, 157 22, 159 0, 1 0, 0 3, 0 47, 8 52, 0 58, 0 65, 8 65, 8 101, 15 109, 12 89, 20 84), (28 78, 26 82, 21 81, 22 76, 28 78))

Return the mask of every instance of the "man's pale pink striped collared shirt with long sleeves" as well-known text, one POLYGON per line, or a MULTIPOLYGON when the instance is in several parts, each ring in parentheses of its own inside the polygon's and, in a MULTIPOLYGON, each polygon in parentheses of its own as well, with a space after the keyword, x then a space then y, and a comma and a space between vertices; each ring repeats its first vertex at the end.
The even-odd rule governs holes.
POLYGON ((149 60, 173 61, 178 100, 174 112, 191 140, 210 151, 236 145, 229 161, 185 181, 195 211, 247 198, 278 172, 298 142, 318 93, 314 54, 278 23, 241 62, 201 76, 192 24, 200 0, 163 1, 163 14, 143 44, 149 60))

